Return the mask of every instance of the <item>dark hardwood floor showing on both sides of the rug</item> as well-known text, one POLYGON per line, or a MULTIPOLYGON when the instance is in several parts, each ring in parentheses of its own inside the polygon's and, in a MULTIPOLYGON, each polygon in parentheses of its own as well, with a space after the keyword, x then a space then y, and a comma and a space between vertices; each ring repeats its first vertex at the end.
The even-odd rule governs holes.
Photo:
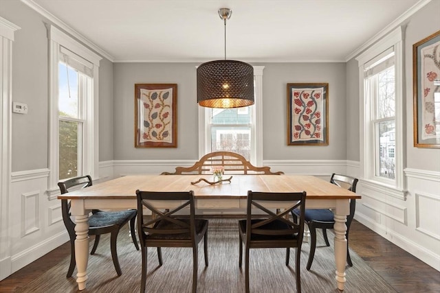
MULTIPOLYGON (((350 247, 397 292, 440 292, 440 272, 353 220, 350 247)), ((0 281, 0 292, 15 292, 70 253, 69 244, 0 281)), ((66 268, 67 269, 67 268, 66 268)))

